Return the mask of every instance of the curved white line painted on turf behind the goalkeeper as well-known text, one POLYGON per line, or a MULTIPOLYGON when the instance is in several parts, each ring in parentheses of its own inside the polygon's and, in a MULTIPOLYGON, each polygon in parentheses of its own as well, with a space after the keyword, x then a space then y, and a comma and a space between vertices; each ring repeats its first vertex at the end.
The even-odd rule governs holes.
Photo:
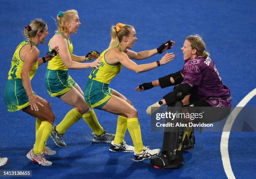
MULTIPOLYGON (((232 128, 232 125, 237 117, 237 115, 242 110, 242 107, 244 107, 254 96, 256 95, 256 88, 252 90, 251 92, 246 95, 243 100, 241 100, 234 110, 230 113, 228 116, 228 119, 225 123, 225 126, 223 128, 223 131, 230 131, 232 128)), ((229 139, 230 132, 222 132, 221 135, 221 141, 220 141, 220 153, 221 153, 221 159, 223 168, 225 170, 225 173, 228 177, 228 179, 235 179, 235 175, 232 171, 229 154, 228 154, 228 139, 229 139)))

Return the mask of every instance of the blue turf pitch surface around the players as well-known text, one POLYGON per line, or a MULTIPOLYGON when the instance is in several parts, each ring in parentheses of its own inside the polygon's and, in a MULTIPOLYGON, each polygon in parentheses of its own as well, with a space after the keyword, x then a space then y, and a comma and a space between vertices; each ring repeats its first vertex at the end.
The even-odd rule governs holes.
MULTIPOLYGON (((255 44, 256 2, 254 0, 96 0, 96 1, 20 1, 0 0, 0 156, 9 158, 1 170, 32 170, 33 178, 226 178, 220 154, 221 132, 196 133, 197 144, 184 153, 184 166, 179 170, 157 170, 149 161, 135 162, 131 153, 111 153, 109 144, 92 143, 90 128, 80 120, 73 125, 64 139, 67 148, 57 148, 51 138, 48 146, 57 151, 47 159, 52 166, 39 166, 26 159, 26 153, 35 140, 35 120, 23 112, 9 113, 3 101, 3 86, 7 79, 10 61, 15 47, 23 41, 23 28, 34 18, 44 19, 49 28, 49 37, 39 49, 43 56, 47 43, 56 30, 57 13, 76 9, 82 25, 77 34, 72 34, 74 54, 84 55, 88 51, 102 52, 110 41, 110 27, 118 22, 131 24, 136 29, 138 41, 134 51, 154 49, 167 40, 176 41, 173 52, 175 60, 149 72, 136 74, 123 68, 111 82, 110 87, 125 95, 138 110, 144 145, 161 148, 163 133, 151 132, 150 118, 145 110, 148 105, 160 100, 172 90, 154 88, 136 92, 138 84, 149 82, 166 74, 177 72, 184 63, 182 51, 184 39, 190 34, 200 34, 215 61, 221 78, 231 90, 232 105, 236 106, 244 96, 256 87, 255 44)), ((138 64, 161 59, 156 55, 138 64)), ((39 67, 33 78, 32 89, 48 100, 59 123, 72 108, 58 98, 51 98, 44 87, 46 65, 39 67)), ((70 75, 83 89, 90 69, 70 70, 70 75)), ((248 103, 255 107, 255 97, 248 103)), ((110 133, 115 133, 116 116, 95 110, 97 117, 110 133)), ((236 178, 256 178, 253 149, 256 133, 231 133, 229 155, 236 178)), ((131 144, 128 132, 125 141, 131 144)))

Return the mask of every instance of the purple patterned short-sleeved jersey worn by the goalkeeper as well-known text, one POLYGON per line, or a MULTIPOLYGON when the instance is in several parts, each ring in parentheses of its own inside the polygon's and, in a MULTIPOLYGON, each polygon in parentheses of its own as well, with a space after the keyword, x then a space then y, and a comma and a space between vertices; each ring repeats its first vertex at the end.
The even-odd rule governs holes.
POLYGON ((198 100, 206 100, 214 107, 231 107, 230 90, 220 78, 214 62, 210 57, 196 57, 185 61, 181 73, 182 83, 193 84, 192 94, 198 100))

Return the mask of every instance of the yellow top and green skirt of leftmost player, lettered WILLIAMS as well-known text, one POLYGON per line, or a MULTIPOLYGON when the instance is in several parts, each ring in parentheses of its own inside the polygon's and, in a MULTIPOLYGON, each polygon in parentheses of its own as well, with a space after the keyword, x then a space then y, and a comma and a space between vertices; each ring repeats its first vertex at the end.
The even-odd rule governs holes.
MULTIPOLYGON (((23 69, 24 61, 20 58, 20 50, 27 44, 36 46, 31 41, 23 41, 18 45, 13 54, 10 71, 8 73, 8 80, 5 83, 3 96, 5 104, 8 107, 8 111, 10 112, 21 110, 30 105, 28 102, 28 95, 21 81, 21 71, 23 69)), ((29 72, 30 80, 34 77, 37 68, 38 61, 34 63, 31 71, 29 72)))

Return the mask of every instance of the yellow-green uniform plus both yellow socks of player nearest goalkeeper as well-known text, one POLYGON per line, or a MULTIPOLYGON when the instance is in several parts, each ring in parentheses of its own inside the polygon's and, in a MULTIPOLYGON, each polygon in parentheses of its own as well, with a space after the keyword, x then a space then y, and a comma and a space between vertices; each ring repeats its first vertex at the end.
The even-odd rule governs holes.
MULTIPOLYGON (((121 51, 121 49, 118 48, 121 51)), ((120 72, 122 64, 109 64, 105 58, 105 54, 109 49, 102 52, 100 56, 101 63, 99 69, 93 69, 89 75, 89 79, 84 89, 84 99, 89 107, 95 107, 102 110, 102 107, 108 102, 112 96, 111 89, 108 87, 111 80, 120 72)), ((115 133, 114 143, 123 143, 126 129, 131 135, 135 152, 140 153, 143 149, 141 139, 141 128, 138 118, 125 118, 118 116, 118 124, 115 133)))

